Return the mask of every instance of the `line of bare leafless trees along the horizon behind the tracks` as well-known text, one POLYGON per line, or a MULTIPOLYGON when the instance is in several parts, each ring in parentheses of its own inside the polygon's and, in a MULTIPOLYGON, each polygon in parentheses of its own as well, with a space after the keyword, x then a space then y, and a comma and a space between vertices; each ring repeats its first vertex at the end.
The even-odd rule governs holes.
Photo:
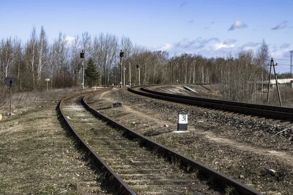
MULTIPOLYGON (((170 57, 167 51, 151 51, 134 45, 131 39, 110 33, 90 35, 88 32, 68 40, 62 32, 48 40, 44 27, 38 33, 33 27, 26 41, 15 38, 0 40, 0 81, 17 78, 17 90, 45 89, 45 78, 51 88, 81 85, 82 60, 84 66, 95 66, 97 79, 90 85, 109 86, 120 83, 120 50, 125 70, 125 83, 138 83, 137 64, 140 65, 141 84, 156 83, 221 83, 223 96, 241 101, 257 98, 259 83, 268 77, 266 64, 270 57, 268 45, 263 40, 257 52, 242 50, 236 56, 227 54, 206 58, 200 54, 180 54, 170 57), (129 65, 131 74, 129 74, 129 65)), ((90 67, 93 68, 92 66, 90 67)), ((123 83, 124 84, 124 83, 123 83)))

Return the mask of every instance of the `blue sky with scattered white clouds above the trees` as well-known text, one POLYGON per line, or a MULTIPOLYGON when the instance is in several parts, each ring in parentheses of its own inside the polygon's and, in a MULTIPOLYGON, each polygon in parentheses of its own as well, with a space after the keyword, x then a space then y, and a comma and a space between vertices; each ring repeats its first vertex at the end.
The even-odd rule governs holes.
POLYGON ((129 37, 151 50, 235 56, 269 44, 277 72, 290 71, 293 0, 0 0, 0 39, 29 39, 33 25, 52 40, 88 31, 129 37))

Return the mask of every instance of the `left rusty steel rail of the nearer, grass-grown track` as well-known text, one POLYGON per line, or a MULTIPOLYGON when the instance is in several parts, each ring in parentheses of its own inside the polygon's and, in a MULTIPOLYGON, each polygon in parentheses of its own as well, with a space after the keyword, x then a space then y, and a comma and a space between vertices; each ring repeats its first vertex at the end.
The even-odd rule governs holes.
MULTIPOLYGON (((83 94, 86 94, 86 93, 90 93, 90 92, 85 92, 83 94)), ((63 104, 64 100, 72 98, 77 95, 81 95, 81 94, 75 94, 73 96, 63 98, 59 102, 59 106, 58 106, 59 112, 60 112, 63 120, 65 121, 65 124, 68 126, 69 130, 74 135, 74 137, 76 137, 77 140, 80 142, 80 144, 83 146, 86 153, 88 153, 91 156, 92 160, 95 163, 97 163, 102 168, 102 170, 105 171, 105 173, 107 173, 109 180, 117 188, 119 193, 121 195, 136 195, 136 193, 103 161, 103 159, 100 156, 98 156, 98 154, 96 152, 94 152, 89 145, 86 144, 84 139, 82 137, 80 137, 80 135, 76 132, 76 130, 71 126, 68 119, 64 116, 63 111, 62 111, 62 104, 63 104)))

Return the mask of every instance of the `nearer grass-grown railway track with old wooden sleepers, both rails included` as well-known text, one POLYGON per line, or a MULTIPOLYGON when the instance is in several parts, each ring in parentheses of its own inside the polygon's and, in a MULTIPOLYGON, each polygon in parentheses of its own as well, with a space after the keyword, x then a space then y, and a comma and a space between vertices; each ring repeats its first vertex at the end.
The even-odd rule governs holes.
POLYGON ((92 109, 86 94, 64 98, 62 117, 118 194, 260 195, 255 190, 178 154, 92 109), (172 162, 172 163, 170 163, 172 162))

